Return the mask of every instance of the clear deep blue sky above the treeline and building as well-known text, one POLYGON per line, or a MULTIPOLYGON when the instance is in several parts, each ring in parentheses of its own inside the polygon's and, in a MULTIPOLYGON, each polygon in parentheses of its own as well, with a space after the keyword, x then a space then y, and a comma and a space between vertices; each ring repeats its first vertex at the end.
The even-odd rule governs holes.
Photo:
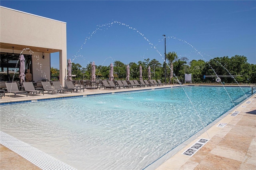
MULTIPOLYGON (((0 5, 66 22, 67 58, 82 67, 147 58, 163 63, 163 34, 166 53, 189 61, 244 55, 256 64, 256 1, 1 0, 0 5)), ((58 53, 51 54, 51 66, 59 68, 58 53)))

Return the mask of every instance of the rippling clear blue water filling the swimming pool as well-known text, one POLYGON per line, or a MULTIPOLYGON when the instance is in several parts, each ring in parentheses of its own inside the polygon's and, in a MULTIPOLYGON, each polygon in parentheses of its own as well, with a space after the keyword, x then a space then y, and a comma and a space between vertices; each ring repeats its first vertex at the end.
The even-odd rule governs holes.
POLYGON ((242 89, 189 86, 1 106, 0 127, 77 169, 143 169, 251 95, 242 89))

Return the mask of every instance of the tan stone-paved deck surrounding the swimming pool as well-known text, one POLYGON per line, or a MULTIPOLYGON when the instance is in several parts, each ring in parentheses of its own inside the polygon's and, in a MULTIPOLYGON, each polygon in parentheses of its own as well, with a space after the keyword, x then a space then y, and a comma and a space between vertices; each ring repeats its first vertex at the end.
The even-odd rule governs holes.
MULTIPOLYGON (((6 96, 0 99, 0 103, 141 89, 157 89, 162 87, 174 86, 164 85, 129 89, 85 89, 84 92, 78 93, 66 92, 64 94, 53 95, 46 93, 45 95, 37 94, 34 96, 28 94, 28 97, 26 97, 26 95, 17 95, 15 98, 12 93, 6 93, 6 96)), ((208 130, 206 130, 206 132, 196 136, 193 140, 188 140, 189 142, 182 144, 183 146, 181 148, 176 148, 178 149, 177 152, 174 153, 171 158, 167 158, 164 163, 161 163, 156 170, 256 169, 256 94, 224 114, 223 117, 218 119, 217 123, 210 126, 211 127, 207 128, 208 130), (239 113, 236 116, 230 116, 234 111, 239 111, 239 113), (226 123, 226 125, 224 127, 217 127, 220 123, 226 123), (182 154, 201 138, 209 139, 209 141, 194 153, 193 156, 182 154)), ((0 169, 37 170, 40 168, 1 144, 0 169)))

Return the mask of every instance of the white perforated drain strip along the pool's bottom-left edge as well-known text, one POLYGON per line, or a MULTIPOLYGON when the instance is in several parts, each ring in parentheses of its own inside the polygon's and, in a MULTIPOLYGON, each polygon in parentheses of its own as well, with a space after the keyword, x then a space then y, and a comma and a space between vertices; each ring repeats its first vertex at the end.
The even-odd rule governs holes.
POLYGON ((43 170, 76 170, 72 166, 0 131, 0 143, 43 170))

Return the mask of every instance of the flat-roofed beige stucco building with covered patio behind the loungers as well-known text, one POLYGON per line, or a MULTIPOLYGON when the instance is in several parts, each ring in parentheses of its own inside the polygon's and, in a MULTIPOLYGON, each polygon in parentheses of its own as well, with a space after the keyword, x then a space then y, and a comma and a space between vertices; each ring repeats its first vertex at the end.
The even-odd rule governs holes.
POLYGON ((66 22, 0 6, 0 81, 19 76, 19 56, 33 81, 50 80, 51 53, 59 52, 60 82, 67 68, 66 22))

